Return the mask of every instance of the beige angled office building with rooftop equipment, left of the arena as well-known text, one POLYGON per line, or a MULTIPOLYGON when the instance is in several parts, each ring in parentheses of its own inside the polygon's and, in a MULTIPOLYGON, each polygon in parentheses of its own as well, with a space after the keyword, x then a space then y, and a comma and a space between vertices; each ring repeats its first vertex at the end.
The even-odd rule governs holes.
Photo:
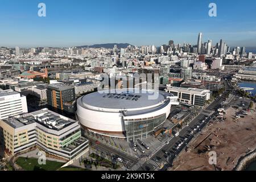
POLYGON ((0 127, 1 143, 10 155, 38 146, 48 154, 72 160, 88 151, 79 122, 48 109, 0 120, 0 127))

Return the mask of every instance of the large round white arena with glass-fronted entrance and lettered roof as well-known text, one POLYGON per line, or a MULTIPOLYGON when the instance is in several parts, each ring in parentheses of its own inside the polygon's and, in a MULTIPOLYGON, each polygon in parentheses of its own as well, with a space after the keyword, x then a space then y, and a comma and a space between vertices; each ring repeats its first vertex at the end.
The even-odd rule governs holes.
POLYGON ((161 129, 171 105, 178 104, 177 97, 163 91, 108 90, 80 97, 77 117, 82 127, 93 133, 137 140, 161 129))

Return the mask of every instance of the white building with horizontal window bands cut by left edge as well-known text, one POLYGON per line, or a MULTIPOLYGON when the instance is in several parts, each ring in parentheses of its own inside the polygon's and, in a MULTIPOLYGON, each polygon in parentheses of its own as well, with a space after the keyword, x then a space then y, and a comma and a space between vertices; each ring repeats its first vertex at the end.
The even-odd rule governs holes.
POLYGON ((26 96, 20 96, 20 93, 14 90, 1 90, 0 119, 6 119, 21 113, 27 113, 26 96))

